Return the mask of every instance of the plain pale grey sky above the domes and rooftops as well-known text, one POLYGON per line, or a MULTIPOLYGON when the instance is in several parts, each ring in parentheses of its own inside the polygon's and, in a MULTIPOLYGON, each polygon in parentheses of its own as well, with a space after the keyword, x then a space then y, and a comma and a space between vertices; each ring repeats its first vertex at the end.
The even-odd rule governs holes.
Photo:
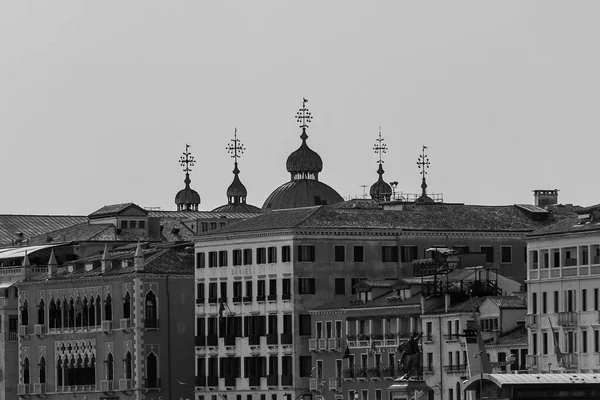
POLYGON ((290 177, 307 98, 321 181, 384 178, 447 202, 600 203, 600 2, 22 1, 0 4, 0 214, 248 203, 290 177))

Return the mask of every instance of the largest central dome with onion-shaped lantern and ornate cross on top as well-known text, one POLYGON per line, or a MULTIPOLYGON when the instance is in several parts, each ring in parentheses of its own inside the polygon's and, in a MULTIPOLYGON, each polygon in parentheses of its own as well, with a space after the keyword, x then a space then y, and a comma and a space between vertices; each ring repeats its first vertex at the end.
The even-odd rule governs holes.
POLYGON ((323 170, 323 160, 306 144, 306 139, 308 139, 306 128, 312 120, 312 115, 306 108, 306 102, 307 100, 304 99, 302 108, 296 115, 300 128, 302 128, 302 135, 300 135, 302 144, 298 150, 290 154, 286 162, 290 181, 279 186, 269 195, 263 204, 263 212, 335 204, 344 201, 338 192, 319 181, 319 172, 323 170))

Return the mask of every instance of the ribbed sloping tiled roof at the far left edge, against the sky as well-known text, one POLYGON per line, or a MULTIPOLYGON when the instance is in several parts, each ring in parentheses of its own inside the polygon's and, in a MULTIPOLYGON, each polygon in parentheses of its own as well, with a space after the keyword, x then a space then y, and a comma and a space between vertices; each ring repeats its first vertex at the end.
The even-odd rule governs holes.
POLYGON ((0 215, 0 245, 38 236, 56 229, 87 222, 86 216, 76 215, 0 215), (19 232, 23 235, 19 236, 19 232))

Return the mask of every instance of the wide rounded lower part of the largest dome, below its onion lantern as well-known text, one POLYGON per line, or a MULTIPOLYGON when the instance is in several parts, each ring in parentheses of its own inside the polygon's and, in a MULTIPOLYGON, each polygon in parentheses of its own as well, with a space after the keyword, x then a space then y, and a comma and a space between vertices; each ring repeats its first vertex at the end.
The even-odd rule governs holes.
POLYGON ((262 211, 312 207, 342 201, 344 201, 342 196, 323 182, 314 179, 297 179, 275 189, 265 200, 262 211))

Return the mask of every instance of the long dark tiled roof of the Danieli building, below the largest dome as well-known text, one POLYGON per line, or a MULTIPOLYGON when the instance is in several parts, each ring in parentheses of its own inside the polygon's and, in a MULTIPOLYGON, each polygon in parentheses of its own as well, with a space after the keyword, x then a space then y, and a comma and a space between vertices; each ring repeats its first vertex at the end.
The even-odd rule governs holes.
POLYGON ((219 233, 271 229, 402 229, 415 231, 531 232, 553 221, 533 221, 515 206, 416 205, 412 210, 336 206, 280 210, 241 221, 219 233))

